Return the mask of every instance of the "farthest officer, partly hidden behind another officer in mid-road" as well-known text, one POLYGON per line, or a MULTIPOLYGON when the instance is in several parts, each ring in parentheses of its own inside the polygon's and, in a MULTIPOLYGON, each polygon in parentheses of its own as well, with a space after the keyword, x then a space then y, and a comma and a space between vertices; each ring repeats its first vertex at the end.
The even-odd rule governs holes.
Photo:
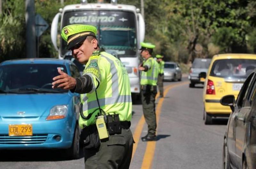
POLYGON ((157 62, 159 64, 159 74, 157 77, 157 85, 159 88, 159 92, 160 92, 160 97, 164 97, 164 61, 163 58, 164 56, 162 55, 156 55, 157 58, 157 62))

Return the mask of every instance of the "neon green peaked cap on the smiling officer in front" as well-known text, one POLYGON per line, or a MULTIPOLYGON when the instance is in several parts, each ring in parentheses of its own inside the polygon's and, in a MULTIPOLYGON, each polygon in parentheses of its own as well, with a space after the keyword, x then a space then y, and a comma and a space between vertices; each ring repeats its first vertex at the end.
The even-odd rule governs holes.
POLYGON ((68 50, 83 42, 87 36, 96 38, 97 28, 91 25, 75 24, 62 28, 61 37, 68 43, 68 50))

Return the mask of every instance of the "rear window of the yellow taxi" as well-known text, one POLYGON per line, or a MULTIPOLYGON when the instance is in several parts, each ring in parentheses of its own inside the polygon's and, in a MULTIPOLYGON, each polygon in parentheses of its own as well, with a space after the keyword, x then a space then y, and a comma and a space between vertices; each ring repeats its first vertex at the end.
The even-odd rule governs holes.
POLYGON ((224 78, 246 78, 256 68, 253 59, 220 59, 212 65, 210 76, 224 78))

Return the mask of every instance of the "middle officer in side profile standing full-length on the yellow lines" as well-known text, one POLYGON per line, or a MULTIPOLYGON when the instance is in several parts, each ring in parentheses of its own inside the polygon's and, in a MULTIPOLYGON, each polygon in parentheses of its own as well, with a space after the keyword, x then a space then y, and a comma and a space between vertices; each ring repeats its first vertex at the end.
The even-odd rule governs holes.
POLYGON ((152 57, 153 48, 155 45, 151 43, 141 42, 141 56, 145 59, 143 65, 140 65, 141 70, 141 99, 143 114, 148 124, 148 134, 142 137, 142 141, 156 141, 156 82, 159 72, 159 65, 152 57))

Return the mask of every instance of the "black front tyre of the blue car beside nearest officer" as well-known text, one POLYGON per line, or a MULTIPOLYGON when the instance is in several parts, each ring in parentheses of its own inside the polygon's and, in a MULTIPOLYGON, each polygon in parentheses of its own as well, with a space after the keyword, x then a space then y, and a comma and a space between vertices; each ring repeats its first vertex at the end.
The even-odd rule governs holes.
POLYGON ((71 159, 80 158, 81 147, 80 147, 79 137, 80 137, 79 136, 79 129, 78 129, 78 125, 76 124, 76 129, 75 129, 75 133, 74 133, 72 146, 69 149, 67 149, 67 151, 66 151, 68 157, 71 158, 71 159))

